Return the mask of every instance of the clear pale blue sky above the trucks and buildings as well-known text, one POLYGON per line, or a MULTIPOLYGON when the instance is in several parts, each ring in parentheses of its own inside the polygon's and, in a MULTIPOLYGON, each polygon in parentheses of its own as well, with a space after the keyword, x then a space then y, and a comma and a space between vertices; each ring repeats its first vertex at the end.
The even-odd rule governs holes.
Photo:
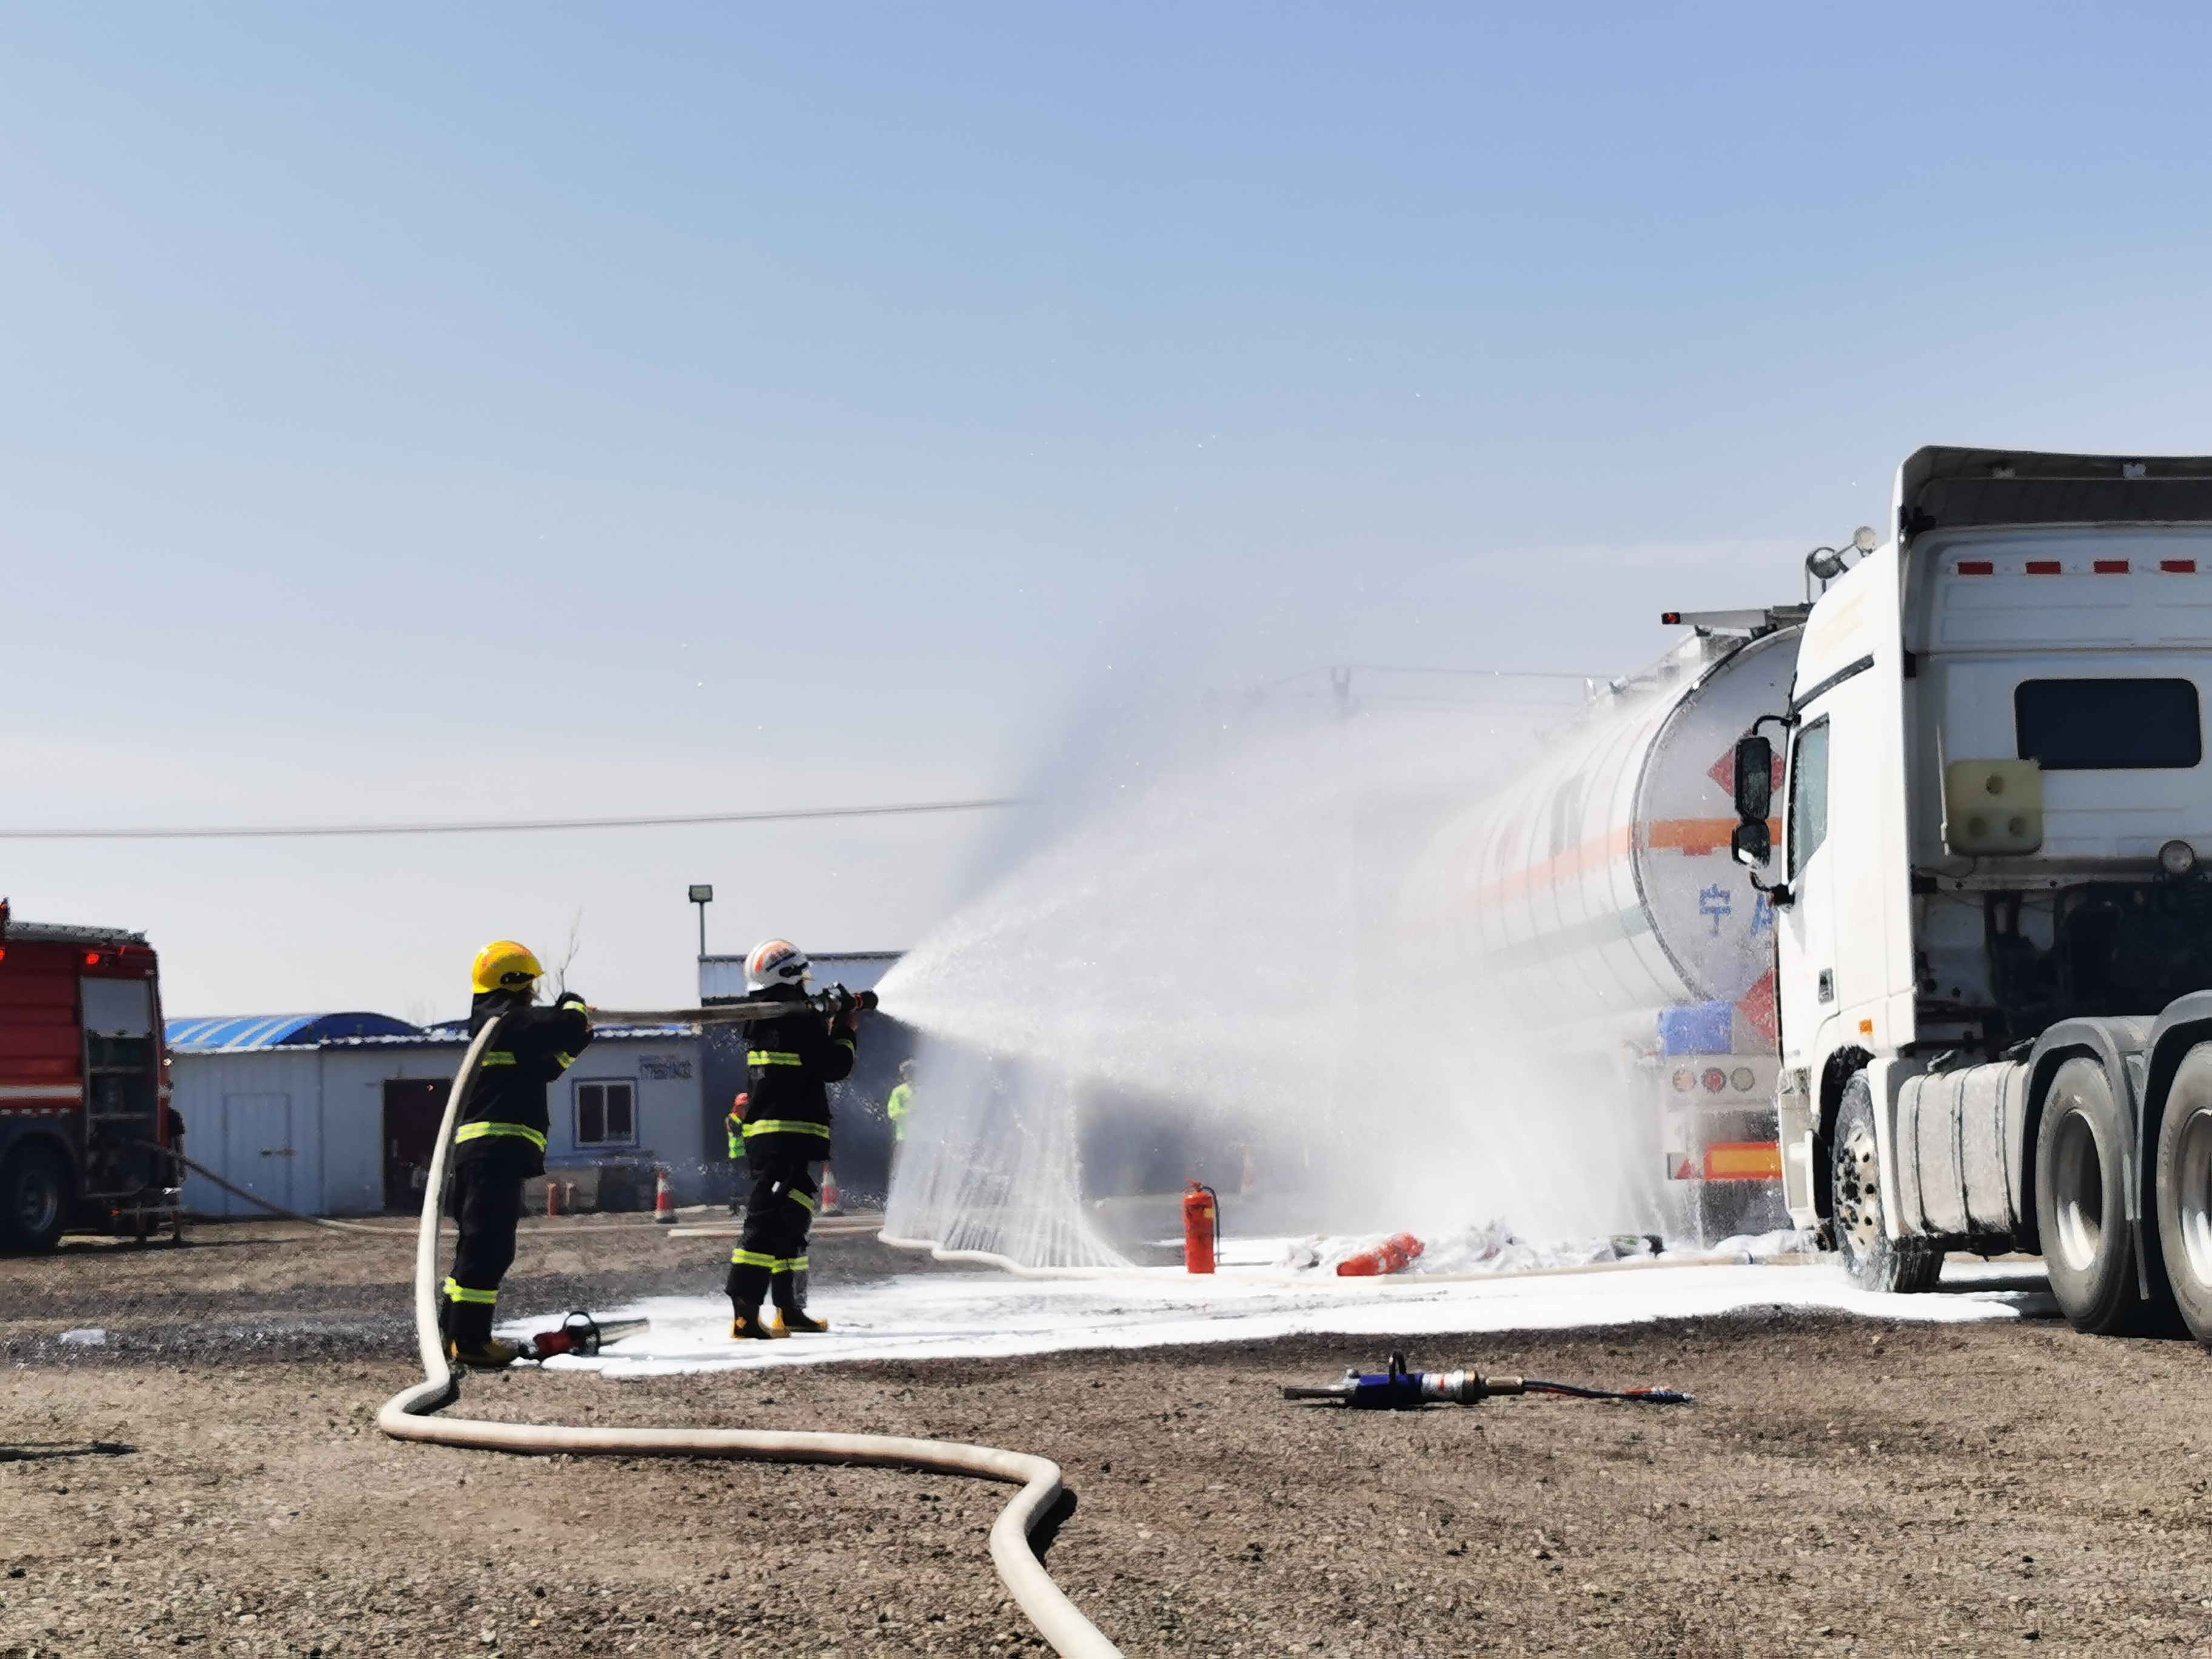
MULTIPOLYGON (((1157 641, 1624 668, 2205 451, 2201 11, 0 7, 13 823, 1020 790, 1157 641), (1113 664, 1124 666, 1121 670, 1113 664)), ((0 843, 190 1013, 898 947, 980 821, 0 843), (314 940, 303 967, 296 940, 314 940)))

